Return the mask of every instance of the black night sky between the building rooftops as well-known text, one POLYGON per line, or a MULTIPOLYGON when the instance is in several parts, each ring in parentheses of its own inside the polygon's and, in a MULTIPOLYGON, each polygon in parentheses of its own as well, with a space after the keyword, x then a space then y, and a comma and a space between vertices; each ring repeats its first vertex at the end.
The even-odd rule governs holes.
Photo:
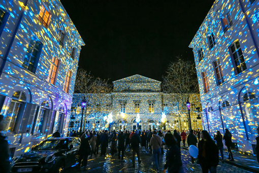
POLYGON ((94 76, 140 74, 161 81, 188 45, 214 0, 61 0, 85 42, 79 68, 94 76))

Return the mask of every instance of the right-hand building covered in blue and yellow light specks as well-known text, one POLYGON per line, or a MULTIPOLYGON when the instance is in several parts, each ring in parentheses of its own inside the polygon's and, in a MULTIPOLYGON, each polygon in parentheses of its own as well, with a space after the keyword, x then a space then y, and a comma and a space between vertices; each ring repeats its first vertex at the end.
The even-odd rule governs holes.
POLYGON ((259 1, 216 0, 189 47, 205 129, 228 128, 235 150, 255 153, 259 123, 259 1))

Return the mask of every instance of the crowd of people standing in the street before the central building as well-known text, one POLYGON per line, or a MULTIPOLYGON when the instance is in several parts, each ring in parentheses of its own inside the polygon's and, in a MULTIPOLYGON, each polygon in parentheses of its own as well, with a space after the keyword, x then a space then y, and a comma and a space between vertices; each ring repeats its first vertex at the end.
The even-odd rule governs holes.
MULTIPOLYGON (((259 133, 259 130, 258 130, 259 133)), ((114 156, 118 155, 119 160, 124 160, 124 152, 132 152, 132 163, 135 166, 135 157, 137 155, 138 164, 141 160, 141 150, 148 151, 153 155, 154 166, 159 171, 160 157, 164 156, 166 152, 166 164, 164 169, 168 172, 184 172, 181 149, 187 149, 186 143, 189 146, 198 146, 198 158, 191 158, 191 163, 195 162, 202 167, 203 172, 216 172, 216 167, 219 164, 219 152, 221 162, 224 162, 223 155, 223 141, 226 149, 229 153, 230 161, 234 161, 232 153, 232 134, 228 129, 225 129, 225 134, 222 135, 220 131, 217 131, 211 136, 208 131, 198 129, 190 130, 186 132, 178 132, 174 130, 132 130, 132 131, 88 131, 86 130, 82 135, 78 131, 71 131, 69 136, 78 136, 82 140, 80 147, 80 165, 86 169, 87 158, 90 155, 95 157, 99 154, 99 148, 101 148, 100 156, 107 154, 107 148, 110 148, 110 154, 114 156)), ((258 137, 256 138, 259 140, 258 137)), ((257 150, 259 147, 257 146, 257 150)), ((258 155, 257 155, 258 158, 258 155)), ((258 159, 259 160, 259 159, 258 159)))

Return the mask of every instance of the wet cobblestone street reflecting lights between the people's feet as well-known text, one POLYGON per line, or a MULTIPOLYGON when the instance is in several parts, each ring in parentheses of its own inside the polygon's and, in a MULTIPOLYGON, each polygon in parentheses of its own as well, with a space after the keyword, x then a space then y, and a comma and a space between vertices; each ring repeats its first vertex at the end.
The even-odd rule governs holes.
MULTIPOLYGON (((97 158, 92 158, 88 160, 88 170, 80 171, 78 167, 69 168, 66 172, 69 173, 76 173, 76 172, 94 172, 94 173, 101 173, 101 172, 155 172, 155 167, 153 164, 152 155, 146 151, 141 152, 141 160, 142 163, 138 165, 136 161, 136 166, 132 166, 132 153, 126 152, 125 153, 125 161, 122 162, 118 160, 117 153, 114 156, 106 155, 106 157, 98 156, 97 158)), ((137 157, 136 157, 137 159, 137 157)), ((182 150, 182 161, 184 172, 201 172, 201 167, 199 165, 192 165, 190 163, 190 157, 187 150, 182 150)), ((165 163, 165 157, 161 157, 160 163, 160 172, 163 172, 163 166, 165 163)), ((217 166, 217 172, 249 172, 244 169, 238 168, 236 166, 227 164, 227 163, 220 163, 217 166)))

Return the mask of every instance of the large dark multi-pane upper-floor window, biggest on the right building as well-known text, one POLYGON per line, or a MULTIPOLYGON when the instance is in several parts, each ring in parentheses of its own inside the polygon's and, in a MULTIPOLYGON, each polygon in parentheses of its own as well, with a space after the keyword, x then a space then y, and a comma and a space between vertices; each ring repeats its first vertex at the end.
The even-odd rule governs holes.
POLYGON ((236 41, 233 45, 230 46, 231 54, 234 60, 235 72, 236 74, 241 73, 246 70, 244 55, 242 53, 239 41, 236 41))

